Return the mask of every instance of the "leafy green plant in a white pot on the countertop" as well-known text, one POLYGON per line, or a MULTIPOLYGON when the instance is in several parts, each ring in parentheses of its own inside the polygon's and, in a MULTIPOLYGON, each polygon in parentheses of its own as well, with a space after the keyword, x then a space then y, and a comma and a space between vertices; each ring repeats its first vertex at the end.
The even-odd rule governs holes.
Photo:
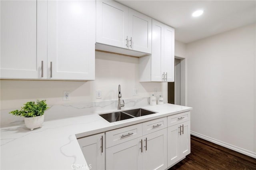
POLYGON ((37 100, 36 103, 34 101, 29 101, 24 104, 24 107, 21 107, 20 110, 11 111, 10 114, 23 116, 26 127, 33 130, 34 128, 42 127, 44 122, 44 111, 48 108, 46 100, 37 100))

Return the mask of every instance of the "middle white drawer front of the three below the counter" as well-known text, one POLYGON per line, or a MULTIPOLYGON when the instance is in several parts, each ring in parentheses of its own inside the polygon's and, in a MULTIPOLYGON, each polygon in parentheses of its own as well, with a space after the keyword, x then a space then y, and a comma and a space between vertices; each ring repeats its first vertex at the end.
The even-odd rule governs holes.
POLYGON ((167 117, 160 119, 154 119, 152 121, 147 121, 142 123, 142 133, 143 135, 156 132, 167 127, 167 117))

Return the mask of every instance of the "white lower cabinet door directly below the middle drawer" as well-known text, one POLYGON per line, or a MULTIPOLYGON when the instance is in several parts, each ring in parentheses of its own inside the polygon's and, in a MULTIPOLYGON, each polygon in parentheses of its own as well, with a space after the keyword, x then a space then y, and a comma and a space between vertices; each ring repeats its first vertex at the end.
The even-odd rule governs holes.
POLYGON ((167 168, 167 129, 150 133, 144 138, 143 169, 164 170, 167 168))

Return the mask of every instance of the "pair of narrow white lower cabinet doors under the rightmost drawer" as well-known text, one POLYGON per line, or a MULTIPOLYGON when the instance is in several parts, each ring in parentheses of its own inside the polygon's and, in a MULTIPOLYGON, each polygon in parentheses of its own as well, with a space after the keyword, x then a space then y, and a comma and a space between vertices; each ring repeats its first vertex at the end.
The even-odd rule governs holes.
POLYGON ((190 154, 190 121, 168 127, 168 167, 190 154))

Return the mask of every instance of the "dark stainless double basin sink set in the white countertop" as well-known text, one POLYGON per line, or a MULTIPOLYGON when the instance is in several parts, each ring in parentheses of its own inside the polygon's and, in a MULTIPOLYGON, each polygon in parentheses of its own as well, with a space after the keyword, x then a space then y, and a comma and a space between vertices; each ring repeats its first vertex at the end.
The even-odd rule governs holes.
POLYGON ((147 111, 144 109, 132 109, 127 111, 119 111, 119 112, 113 112, 113 113, 106 113, 100 115, 104 119, 106 119, 108 122, 116 122, 116 121, 122 121, 125 119, 131 119, 134 117, 141 117, 145 115, 151 115, 156 112, 147 111))

